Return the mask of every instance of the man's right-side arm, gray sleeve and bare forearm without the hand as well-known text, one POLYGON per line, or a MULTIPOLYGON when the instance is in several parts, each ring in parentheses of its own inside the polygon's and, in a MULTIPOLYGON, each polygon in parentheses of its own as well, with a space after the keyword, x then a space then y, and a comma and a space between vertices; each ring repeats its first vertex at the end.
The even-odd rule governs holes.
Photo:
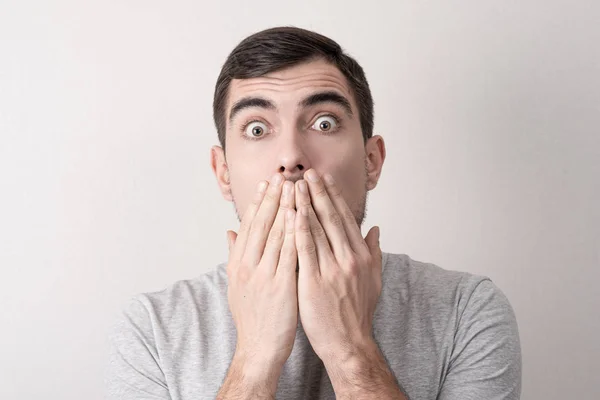
MULTIPOLYGON (((376 343, 325 363, 341 399, 408 399, 376 343)), ((518 400, 521 348, 514 311, 490 281, 473 290, 460 317, 450 367, 439 400, 518 400)))

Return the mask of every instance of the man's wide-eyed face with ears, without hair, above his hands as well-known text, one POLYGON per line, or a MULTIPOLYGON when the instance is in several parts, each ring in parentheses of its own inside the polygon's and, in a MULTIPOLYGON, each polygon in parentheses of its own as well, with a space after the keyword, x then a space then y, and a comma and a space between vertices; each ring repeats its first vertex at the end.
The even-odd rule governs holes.
POLYGON ((380 136, 365 146, 359 109, 335 66, 316 60, 259 78, 234 79, 226 110, 227 157, 215 146, 211 163, 238 219, 258 182, 277 172, 296 182, 314 168, 320 176, 333 176, 357 224, 362 224, 367 192, 377 185, 385 146, 380 136))

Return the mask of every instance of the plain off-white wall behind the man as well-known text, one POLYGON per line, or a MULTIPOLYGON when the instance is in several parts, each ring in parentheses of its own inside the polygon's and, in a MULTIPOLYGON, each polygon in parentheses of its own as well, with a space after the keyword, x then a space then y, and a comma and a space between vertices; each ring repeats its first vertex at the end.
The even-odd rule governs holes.
POLYGON ((102 398, 126 300, 226 260, 214 83, 276 25, 367 73, 388 157, 363 232, 494 280, 523 399, 600 398, 599 21, 594 0, 2 1, 0 398, 102 398))

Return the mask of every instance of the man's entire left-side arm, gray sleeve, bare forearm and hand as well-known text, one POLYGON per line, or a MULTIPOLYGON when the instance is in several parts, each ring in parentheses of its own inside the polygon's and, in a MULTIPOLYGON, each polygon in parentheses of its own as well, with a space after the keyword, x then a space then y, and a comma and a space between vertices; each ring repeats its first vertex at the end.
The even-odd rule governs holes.
MULTIPOLYGON (((293 184, 281 183, 260 185, 264 189, 248 206, 240 235, 228 233, 228 301, 238 342, 220 399, 274 398, 294 344, 298 305, 293 184), (283 191, 280 204, 282 186, 289 190, 283 191)), ((115 325, 105 382, 108 399, 171 398, 152 320, 149 308, 134 300, 115 325)))

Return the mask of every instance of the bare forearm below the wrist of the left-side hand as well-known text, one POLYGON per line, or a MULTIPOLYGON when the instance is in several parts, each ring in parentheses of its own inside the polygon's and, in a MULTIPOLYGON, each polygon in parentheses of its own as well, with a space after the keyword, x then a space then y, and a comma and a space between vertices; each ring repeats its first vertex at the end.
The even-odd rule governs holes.
POLYGON ((217 400, 275 399, 281 368, 276 365, 252 362, 247 357, 235 355, 217 400))

